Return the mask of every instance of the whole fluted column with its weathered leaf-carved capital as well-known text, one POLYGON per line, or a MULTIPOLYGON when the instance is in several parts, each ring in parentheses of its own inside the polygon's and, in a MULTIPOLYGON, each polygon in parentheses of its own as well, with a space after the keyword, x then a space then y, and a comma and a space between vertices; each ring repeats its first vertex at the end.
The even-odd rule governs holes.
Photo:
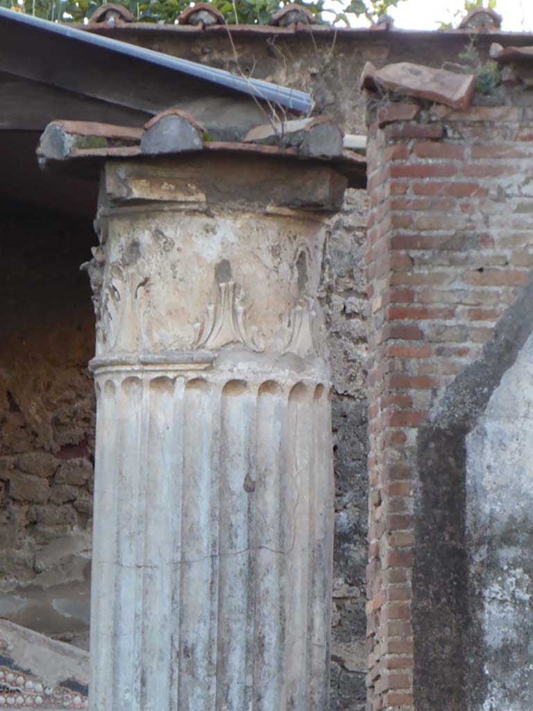
POLYGON ((92 711, 328 707, 332 203, 230 163, 102 173, 92 711))

